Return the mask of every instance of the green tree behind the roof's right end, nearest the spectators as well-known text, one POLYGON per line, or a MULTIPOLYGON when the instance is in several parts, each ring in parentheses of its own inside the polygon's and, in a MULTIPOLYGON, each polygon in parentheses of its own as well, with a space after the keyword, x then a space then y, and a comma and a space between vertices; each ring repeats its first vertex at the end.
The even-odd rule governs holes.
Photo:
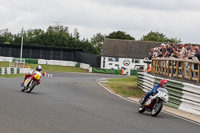
POLYGON ((149 32, 147 35, 141 38, 142 41, 156 41, 156 42, 180 42, 177 38, 167 38, 166 35, 159 32, 149 32))

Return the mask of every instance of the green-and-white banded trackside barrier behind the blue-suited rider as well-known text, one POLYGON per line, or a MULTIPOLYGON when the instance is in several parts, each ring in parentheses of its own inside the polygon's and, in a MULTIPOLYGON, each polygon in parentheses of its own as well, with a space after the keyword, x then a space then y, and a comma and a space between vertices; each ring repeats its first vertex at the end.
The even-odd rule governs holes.
MULTIPOLYGON (((162 78, 146 73, 138 73, 138 87, 150 91, 162 78)), ((167 106, 200 115, 200 86, 168 80, 166 89, 169 92, 167 106)))

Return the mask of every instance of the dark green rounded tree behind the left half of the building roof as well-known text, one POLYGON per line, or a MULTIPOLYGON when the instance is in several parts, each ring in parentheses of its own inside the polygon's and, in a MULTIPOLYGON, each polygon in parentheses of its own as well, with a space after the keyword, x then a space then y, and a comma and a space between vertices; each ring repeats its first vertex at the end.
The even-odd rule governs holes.
POLYGON ((110 33, 106 38, 111 38, 111 39, 126 39, 126 40, 135 40, 134 37, 130 36, 129 34, 126 34, 126 32, 123 31, 114 31, 110 33))

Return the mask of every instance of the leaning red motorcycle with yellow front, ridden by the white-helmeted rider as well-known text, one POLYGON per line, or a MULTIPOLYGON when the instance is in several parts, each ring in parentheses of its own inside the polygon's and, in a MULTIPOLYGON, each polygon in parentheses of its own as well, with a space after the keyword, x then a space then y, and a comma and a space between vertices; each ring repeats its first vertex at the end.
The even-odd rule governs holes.
POLYGON ((40 75, 41 74, 39 72, 36 72, 32 76, 28 77, 25 80, 24 84, 21 86, 21 91, 26 91, 27 93, 30 93, 33 88, 40 82, 40 75))

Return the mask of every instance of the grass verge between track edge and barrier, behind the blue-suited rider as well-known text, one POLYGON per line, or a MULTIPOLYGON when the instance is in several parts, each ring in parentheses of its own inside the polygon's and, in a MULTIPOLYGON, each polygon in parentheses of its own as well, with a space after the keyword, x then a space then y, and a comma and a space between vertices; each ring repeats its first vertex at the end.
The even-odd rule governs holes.
POLYGON ((104 85, 121 96, 136 98, 145 96, 145 92, 137 87, 136 76, 108 79, 107 81, 104 85))

